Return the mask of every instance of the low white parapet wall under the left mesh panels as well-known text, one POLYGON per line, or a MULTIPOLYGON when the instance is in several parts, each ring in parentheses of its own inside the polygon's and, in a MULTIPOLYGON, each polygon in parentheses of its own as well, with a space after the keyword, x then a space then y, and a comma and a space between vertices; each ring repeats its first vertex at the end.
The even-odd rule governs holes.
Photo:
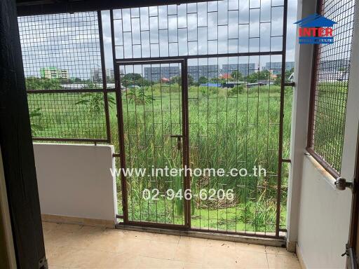
POLYGON ((114 146, 34 144, 41 214, 46 219, 116 221, 114 146))

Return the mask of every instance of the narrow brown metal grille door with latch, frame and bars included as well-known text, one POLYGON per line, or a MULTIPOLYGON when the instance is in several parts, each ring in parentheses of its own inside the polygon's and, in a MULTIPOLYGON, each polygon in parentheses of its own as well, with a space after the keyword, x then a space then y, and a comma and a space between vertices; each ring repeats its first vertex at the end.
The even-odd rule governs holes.
POLYGON ((118 62, 117 68, 124 222, 188 226, 184 199, 175 197, 187 186, 184 174, 169 174, 184 167, 187 150, 184 62, 118 62))

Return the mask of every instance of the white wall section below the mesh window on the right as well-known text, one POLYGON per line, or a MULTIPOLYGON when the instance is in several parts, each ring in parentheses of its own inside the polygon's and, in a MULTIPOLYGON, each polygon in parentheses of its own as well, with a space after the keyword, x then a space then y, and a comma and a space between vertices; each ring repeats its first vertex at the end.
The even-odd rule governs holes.
POLYGON ((334 178, 304 156, 298 247, 306 268, 345 268, 351 191, 337 191, 334 178))

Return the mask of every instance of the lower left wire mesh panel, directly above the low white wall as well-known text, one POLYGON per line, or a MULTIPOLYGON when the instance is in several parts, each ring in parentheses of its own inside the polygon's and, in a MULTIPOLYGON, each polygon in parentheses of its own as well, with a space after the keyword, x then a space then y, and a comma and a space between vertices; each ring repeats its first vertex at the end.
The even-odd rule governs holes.
POLYGON ((34 139, 107 141, 102 92, 36 92, 27 99, 34 139))

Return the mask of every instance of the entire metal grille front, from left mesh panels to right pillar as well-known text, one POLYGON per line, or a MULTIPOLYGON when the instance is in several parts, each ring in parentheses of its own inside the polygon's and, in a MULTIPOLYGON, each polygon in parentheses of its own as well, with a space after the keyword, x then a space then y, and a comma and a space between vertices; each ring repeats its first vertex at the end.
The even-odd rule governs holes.
POLYGON ((33 137, 109 142, 111 131, 118 135, 114 157, 122 168, 151 167, 152 159, 165 160, 161 151, 177 153, 170 160, 178 166, 251 170, 262 165, 266 176, 231 180, 117 178, 118 200, 123 200, 118 219, 278 238, 285 228, 287 191, 282 152, 289 132, 283 136, 283 125, 290 125, 291 109, 291 90, 280 79, 289 71, 283 66, 286 13, 285 0, 110 11, 112 77, 104 71, 100 12, 19 18, 33 137), (128 69, 135 66, 141 68, 128 69), (115 90, 107 90, 110 79, 116 79, 115 90), (179 89, 181 98, 175 95, 179 89), (109 114, 111 122, 117 121, 113 130, 109 114), (182 162, 179 148, 185 153, 182 162), (184 208, 138 198, 148 184, 163 192, 178 183, 194 192, 233 187, 237 198, 194 199, 184 208))

